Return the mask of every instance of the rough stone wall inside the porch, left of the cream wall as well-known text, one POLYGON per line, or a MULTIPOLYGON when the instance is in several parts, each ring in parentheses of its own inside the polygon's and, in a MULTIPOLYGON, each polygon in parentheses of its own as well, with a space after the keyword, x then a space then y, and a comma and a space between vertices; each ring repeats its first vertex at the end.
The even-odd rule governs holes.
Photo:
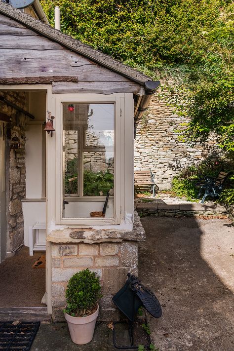
MULTIPOLYGON (((25 109, 26 95, 24 92, 0 92, 0 96, 25 109)), ((9 116, 4 123, 6 143, 6 220, 7 220, 7 252, 14 251, 24 242, 24 220, 21 199, 25 197, 25 116, 14 108, 0 101, 0 112, 9 116), (6 137, 6 130, 20 139, 21 148, 10 149, 11 137, 6 137)), ((15 254, 7 254, 11 256, 15 254)))

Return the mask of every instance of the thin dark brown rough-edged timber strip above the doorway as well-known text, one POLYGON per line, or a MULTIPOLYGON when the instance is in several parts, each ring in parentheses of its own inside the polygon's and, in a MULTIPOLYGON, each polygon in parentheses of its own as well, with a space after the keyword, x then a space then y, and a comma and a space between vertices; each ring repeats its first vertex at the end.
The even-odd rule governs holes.
POLYGON ((51 76, 51 77, 28 77, 28 78, 2 78, 0 77, 0 84, 38 84, 38 83, 52 83, 56 81, 62 82, 78 82, 77 77, 69 76, 51 76))

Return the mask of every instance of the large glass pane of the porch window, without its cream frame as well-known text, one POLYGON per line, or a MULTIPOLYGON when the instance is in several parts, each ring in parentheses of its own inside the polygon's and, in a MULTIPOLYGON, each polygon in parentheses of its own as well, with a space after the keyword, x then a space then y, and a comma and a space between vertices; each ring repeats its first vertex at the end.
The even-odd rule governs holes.
POLYGON ((104 207, 114 216, 114 113, 115 104, 63 104, 65 218, 90 218, 104 207))

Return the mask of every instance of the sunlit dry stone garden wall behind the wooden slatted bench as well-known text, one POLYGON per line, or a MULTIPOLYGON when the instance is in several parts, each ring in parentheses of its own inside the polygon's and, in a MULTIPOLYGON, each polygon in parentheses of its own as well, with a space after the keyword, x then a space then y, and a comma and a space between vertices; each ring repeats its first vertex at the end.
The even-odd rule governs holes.
POLYGON ((210 155, 215 158, 221 152, 214 140, 193 147, 181 141, 177 130, 181 128, 182 121, 186 120, 181 120, 181 117, 174 114, 173 108, 159 97, 157 91, 138 124, 134 168, 151 169, 159 190, 170 189, 173 177, 183 168, 210 155))

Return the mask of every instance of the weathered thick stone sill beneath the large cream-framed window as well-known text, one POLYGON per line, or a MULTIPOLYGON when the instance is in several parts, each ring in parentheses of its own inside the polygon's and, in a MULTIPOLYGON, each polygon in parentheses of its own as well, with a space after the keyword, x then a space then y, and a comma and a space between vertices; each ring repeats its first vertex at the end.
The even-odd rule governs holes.
POLYGON ((92 228, 66 228, 63 230, 52 231, 46 241, 54 243, 78 243, 84 242, 88 244, 99 242, 121 242, 144 241, 145 230, 140 222, 140 217, 135 213, 135 222, 132 231, 110 230, 110 229, 92 229, 92 228))

